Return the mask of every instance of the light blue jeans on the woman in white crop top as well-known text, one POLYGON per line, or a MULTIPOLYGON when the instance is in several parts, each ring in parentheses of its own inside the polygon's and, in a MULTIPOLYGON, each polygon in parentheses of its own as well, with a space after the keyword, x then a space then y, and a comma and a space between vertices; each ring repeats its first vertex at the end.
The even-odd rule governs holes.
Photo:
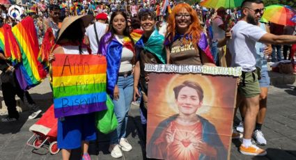
POLYGON ((120 138, 125 138, 128 111, 130 111, 130 104, 134 96, 134 75, 118 77, 117 86, 119 89, 119 99, 113 100, 113 103, 118 127, 111 133, 111 144, 118 144, 120 138))

